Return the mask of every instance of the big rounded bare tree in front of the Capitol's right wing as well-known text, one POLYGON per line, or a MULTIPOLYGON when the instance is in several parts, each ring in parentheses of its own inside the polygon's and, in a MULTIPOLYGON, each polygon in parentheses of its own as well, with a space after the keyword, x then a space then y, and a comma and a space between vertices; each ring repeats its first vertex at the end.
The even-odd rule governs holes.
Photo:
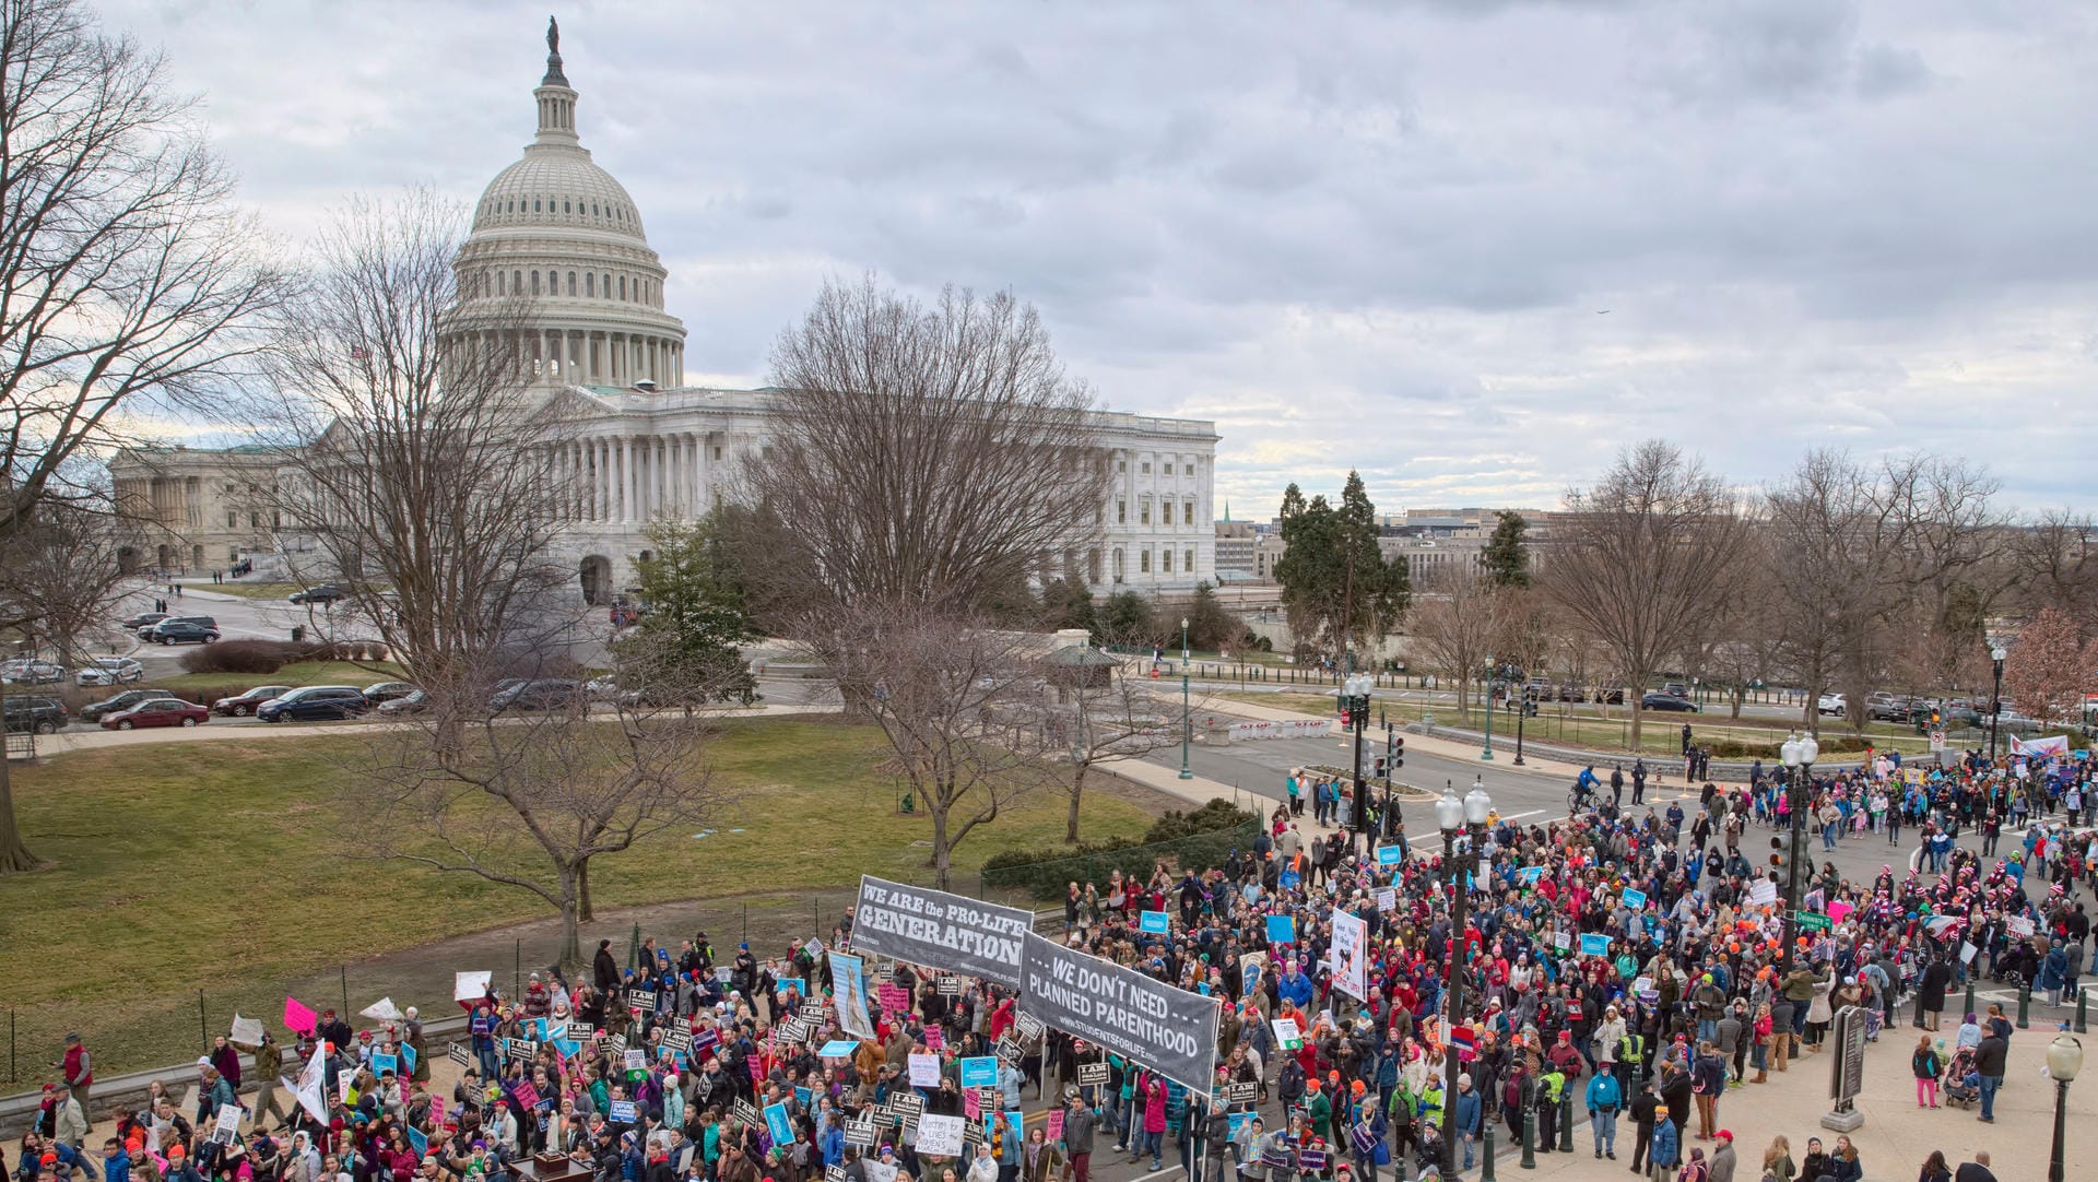
POLYGON ((969 616, 1097 537, 1089 396, 1009 293, 831 283, 774 344, 772 384, 791 396, 745 482, 785 524, 768 572, 804 631, 862 606, 969 616))

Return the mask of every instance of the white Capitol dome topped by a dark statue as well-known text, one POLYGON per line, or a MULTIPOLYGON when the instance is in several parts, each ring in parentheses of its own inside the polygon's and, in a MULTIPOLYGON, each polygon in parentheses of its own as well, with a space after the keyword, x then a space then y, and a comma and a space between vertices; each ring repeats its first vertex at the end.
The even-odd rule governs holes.
POLYGON ((535 381, 684 386, 684 321, 663 310, 669 272, 634 197, 575 132, 577 92, 554 25, 533 98, 539 132, 474 203, 447 337, 514 350, 535 381))

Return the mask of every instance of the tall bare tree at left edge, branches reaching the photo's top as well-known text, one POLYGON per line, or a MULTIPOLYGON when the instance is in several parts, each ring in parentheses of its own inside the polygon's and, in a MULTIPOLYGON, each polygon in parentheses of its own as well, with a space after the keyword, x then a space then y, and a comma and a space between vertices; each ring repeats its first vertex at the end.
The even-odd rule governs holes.
MULTIPOLYGON (((103 503, 126 411, 197 409, 279 296, 162 61, 73 0, 0 0, 0 539, 103 503)), ((0 874, 23 845, 0 761, 0 874)))

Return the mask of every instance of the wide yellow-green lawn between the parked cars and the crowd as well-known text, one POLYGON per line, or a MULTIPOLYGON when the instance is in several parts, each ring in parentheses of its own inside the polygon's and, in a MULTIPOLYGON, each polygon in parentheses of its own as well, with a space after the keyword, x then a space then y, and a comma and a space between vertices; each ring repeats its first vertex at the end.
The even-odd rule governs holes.
MULTIPOLYGON (((384 991, 403 1006, 420 1000, 426 1014, 432 1004, 449 1010, 438 989, 451 968, 501 968, 508 981, 510 947, 489 958, 495 964, 418 968, 413 956, 388 958, 550 912, 510 886, 361 859, 357 819, 342 815, 334 790, 357 775, 369 742, 138 744, 17 765, 23 832, 57 863, 0 878, 8 949, 0 993, 15 1008, 23 1081, 34 1086, 67 1029, 84 1031, 111 1073, 197 1054, 199 1008, 212 1031, 222 1033, 233 1010, 275 1029, 285 991, 329 1002, 338 964, 348 964, 344 991, 355 1006, 384 991)), ((896 811, 896 784, 877 771, 883 750, 871 727, 726 723, 711 765, 734 805, 692 826, 713 830, 707 838, 665 832, 596 863, 598 914, 774 893, 793 897, 806 937, 814 891, 850 889, 862 872, 929 882, 927 851, 913 847, 929 836, 929 822, 896 811)), ((1095 788, 1085 836, 1135 836, 1150 817, 1095 788)), ((1062 836, 1062 796, 1034 794, 971 834, 955 857, 973 870, 1001 849, 1062 836)), ((822 905, 835 914, 837 903, 822 905)), ((745 926, 753 947, 793 935, 764 931, 762 916, 745 916, 745 926)), ((709 928, 718 947, 734 945, 728 922, 709 920, 709 928)), ((529 966, 545 964, 550 951, 548 941, 527 939, 516 956, 529 966)))

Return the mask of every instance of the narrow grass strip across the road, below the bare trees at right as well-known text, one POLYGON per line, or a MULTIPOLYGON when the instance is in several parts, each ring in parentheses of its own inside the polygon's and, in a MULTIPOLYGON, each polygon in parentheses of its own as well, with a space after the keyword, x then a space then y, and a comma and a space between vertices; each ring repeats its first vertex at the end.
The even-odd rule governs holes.
MULTIPOLYGON (((1259 694, 1250 690, 1219 690, 1217 698, 1236 702, 1255 702, 1261 706, 1273 706, 1278 710, 1297 710, 1301 715, 1334 717, 1334 704, 1330 696, 1315 694, 1259 694)), ((1372 704, 1374 710, 1383 710, 1385 717, 1406 723, 1418 723, 1425 715, 1435 715, 1437 723, 1458 725, 1458 727, 1481 727, 1485 725, 1485 715, 1475 702, 1469 719, 1456 713, 1454 704, 1420 704, 1420 702, 1387 702, 1378 698, 1372 704)), ((1374 721, 1374 717, 1372 717, 1374 721)), ((1737 740, 1737 742, 1767 742, 1779 744, 1790 731, 1796 729, 1792 721, 1741 717, 1729 719, 1722 708, 1708 710, 1704 715, 1660 715, 1649 713, 1647 725, 1641 729, 1639 746, 1647 754, 1678 757, 1683 750, 1683 723, 1689 721, 1693 734, 1706 740, 1737 740)), ((1494 715, 1494 738, 1506 734, 1508 742, 1515 742, 1515 715, 1508 710, 1498 710, 1494 715)), ((1624 708, 1613 708, 1611 717, 1594 713, 1592 706, 1576 713, 1571 702, 1561 713, 1557 702, 1546 702, 1538 708, 1538 717, 1523 721, 1525 738, 1553 744, 1569 746, 1592 746, 1597 750, 1622 752, 1630 750, 1632 723, 1624 708)), ((1825 721, 1821 727, 1823 736, 1846 734, 1842 723, 1834 719, 1825 721)), ((1888 723, 1874 723, 1865 727, 1865 738, 1869 738, 1878 748, 1894 748, 1903 752, 1926 752, 1930 742, 1918 736, 1913 729, 1894 727, 1888 723)), ((1775 746, 1771 748, 1775 754, 1775 746)))

